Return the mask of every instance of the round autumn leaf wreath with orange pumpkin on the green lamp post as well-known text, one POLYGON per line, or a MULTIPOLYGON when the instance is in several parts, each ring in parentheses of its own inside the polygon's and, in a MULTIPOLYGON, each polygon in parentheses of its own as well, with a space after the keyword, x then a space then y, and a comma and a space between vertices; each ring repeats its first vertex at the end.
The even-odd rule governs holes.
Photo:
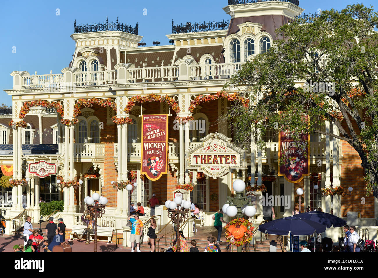
POLYGON ((226 241, 236 246, 242 246, 253 238, 254 226, 244 218, 235 218, 225 227, 226 241))

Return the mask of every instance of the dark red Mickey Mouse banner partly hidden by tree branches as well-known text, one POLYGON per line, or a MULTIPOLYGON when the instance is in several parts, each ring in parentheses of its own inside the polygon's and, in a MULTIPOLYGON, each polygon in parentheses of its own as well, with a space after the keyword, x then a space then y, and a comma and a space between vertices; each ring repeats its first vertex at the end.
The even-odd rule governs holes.
POLYGON ((288 182, 297 183, 302 181, 304 176, 309 175, 310 157, 308 156, 308 144, 310 136, 308 133, 300 134, 301 140, 294 142, 291 133, 280 131, 278 158, 281 153, 285 154, 284 164, 278 168, 278 175, 284 176, 288 182))

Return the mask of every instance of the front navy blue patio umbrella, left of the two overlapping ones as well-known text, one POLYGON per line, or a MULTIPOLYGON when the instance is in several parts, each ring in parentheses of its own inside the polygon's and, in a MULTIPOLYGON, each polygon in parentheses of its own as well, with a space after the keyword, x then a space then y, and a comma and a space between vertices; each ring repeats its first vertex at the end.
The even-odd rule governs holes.
POLYGON ((270 235, 286 236, 289 233, 294 236, 312 235, 314 232, 323 233, 325 225, 304 218, 293 216, 276 219, 259 225, 259 231, 270 235))

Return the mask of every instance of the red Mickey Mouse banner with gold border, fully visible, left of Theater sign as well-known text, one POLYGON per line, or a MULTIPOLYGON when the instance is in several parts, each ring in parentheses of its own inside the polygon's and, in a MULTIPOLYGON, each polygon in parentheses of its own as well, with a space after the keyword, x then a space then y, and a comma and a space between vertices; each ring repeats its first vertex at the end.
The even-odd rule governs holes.
POLYGON ((142 174, 151 181, 167 174, 168 115, 142 115, 142 174))

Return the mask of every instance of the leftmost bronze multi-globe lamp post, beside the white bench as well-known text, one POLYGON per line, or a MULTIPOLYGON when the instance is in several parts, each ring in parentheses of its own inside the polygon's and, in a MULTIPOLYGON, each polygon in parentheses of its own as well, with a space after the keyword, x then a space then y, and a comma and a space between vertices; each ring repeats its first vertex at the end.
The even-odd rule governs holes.
POLYGON ((92 197, 84 198, 85 205, 87 206, 87 213, 95 221, 94 233, 95 233, 95 250, 97 252, 97 218, 101 218, 105 213, 105 207, 108 203, 108 199, 104 196, 100 196, 98 193, 93 193, 92 197))

